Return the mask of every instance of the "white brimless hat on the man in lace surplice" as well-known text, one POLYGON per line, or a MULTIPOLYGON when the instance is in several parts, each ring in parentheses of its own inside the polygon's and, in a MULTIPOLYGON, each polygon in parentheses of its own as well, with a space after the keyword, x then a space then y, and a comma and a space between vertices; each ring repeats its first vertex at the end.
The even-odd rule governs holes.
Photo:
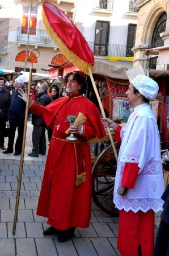
POLYGON ((148 100, 154 100, 158 94, 158 84, 150 77, 145 75, 138 75, 134 78, 131 83, 133 86, 140 92, 143 96, 145 96, 148 100))

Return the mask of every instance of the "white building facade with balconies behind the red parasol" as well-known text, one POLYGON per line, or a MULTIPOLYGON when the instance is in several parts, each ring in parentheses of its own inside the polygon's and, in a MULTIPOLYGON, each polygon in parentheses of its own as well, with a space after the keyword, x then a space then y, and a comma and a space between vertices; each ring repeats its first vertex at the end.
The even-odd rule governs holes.
MULTIPOLYGON (((53 0, 50 1, 75 23, 96 59, 115 61, 132 68, 136 37, 136 0, 53 0), (111 60, 110 60, 111 59, 111 60)), ((43 73, 48 64, 66 62, 50 39, 41 19, 41 0, 0 1, 0 68, 28 71, 24 63, 29 51, 40 52, 33 59, 33 72, 43 73)))

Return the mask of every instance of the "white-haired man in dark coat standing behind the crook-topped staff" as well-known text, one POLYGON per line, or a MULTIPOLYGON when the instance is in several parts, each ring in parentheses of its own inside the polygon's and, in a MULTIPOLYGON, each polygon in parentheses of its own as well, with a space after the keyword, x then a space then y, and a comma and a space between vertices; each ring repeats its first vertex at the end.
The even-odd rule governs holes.
POLYGON ((15 79, 14 82, 15 90, 12 90, 10 108, 8 111, 8 118, 10 122, 10 135, 7 149, 3 151, 3 154, 9 154, 13 152, 14 139, 16 128, 18 129, 18 137, 15 143, 14 155, 20 155, 22 151, 23 141, 23 129, 24 129, 24 116, 26 110, 26 103, 23 102, 19 97, 18 90, 22 88, 24 90, 24 81, 22 78, 15 79))

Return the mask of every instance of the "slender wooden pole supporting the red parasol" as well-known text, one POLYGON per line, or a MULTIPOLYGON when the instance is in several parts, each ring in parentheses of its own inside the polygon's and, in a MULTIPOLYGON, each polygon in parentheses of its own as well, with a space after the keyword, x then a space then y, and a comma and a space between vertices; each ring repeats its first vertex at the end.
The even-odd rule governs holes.
MULTIPOLYGON (((102 101, 100 100, 100 96, 99 96, 99 93, 98 93, 98 89, 96 88, 95 81, 94 81, 94 77, 92 76, 92 72, 91 72, 91 69, 90 69, 89 66, 88 66, 88 72, 89 72, 89 75, 90 75, 90 79, 91 79, 92 86, 93 86, 93 88, 94 88, 96 97, 97 97, 98 102, 99 102, 100 110, 101 110, 101 112, 102 112, 103 117, 105 118, 105 113, 104 113, 102 101)), ((112 135, 111 135, 111 131, 109 130, 109 127, 107 127, 107 131, 108 131, 109 139, 110 139, 110 141, 111 141, 111 144, 112 144, 112 147, 113 147, 113 151, 114 151, 114 154, 115 154, 115 158, 116 158, 116 161, 117 161, 117 160, 118 160, 117 151, 116 151, 115 143, 113 142, 113 138, 112 138, 112 135)))

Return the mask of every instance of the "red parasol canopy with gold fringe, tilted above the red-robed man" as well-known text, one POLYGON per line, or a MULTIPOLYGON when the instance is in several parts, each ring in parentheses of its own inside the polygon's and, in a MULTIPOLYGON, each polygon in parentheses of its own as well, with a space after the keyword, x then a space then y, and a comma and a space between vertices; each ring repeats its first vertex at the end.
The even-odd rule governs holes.
POLYGON ((43 22, 50 38, 62 53, 81 71, 88 74, 88 65, 92 69, 94 54, 78 28, 57 6, 43 3, 43 22))

